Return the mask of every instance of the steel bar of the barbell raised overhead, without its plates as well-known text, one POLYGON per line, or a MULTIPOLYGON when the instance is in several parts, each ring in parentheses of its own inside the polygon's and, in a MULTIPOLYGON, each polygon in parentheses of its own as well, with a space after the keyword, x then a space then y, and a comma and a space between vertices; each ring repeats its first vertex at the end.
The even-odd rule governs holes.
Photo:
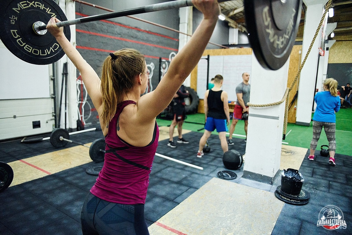
MULTIPOLYGON (((218 2, 226 2, 226 1, 229 1, 229 0, 219 0, 218 2)), ((56 23, 56 25, 57 27, 63 27, 63 26, 69 26, 69 25, 75 25, 75 24, 88 23, 88 22, 97 21, 97 20, 106 20, 106 19, 112 19, 112 18, 117 18, 122 16, 130 16, 130 15, 142 14, 147 12, 170 10, 170 9, 188 7, 188 6, 194 6, 191 0, 176 0, 176 1, 170 1, 170 2, 162 2, 162 3, 152 4, 152 5, 143 6, 143 7, 136 7, 136 8, 122 10, 122 11, 100 14, 96 16, 87 16, 87 17, 82 17, 82 18, 73 19, 73 20, 66 20, 66 21, 58 22, 56 23)), ((37 27, 36 31, 40 32, 42 30, 46 30, 46 26, 47 25, 40 25, 37 27)))

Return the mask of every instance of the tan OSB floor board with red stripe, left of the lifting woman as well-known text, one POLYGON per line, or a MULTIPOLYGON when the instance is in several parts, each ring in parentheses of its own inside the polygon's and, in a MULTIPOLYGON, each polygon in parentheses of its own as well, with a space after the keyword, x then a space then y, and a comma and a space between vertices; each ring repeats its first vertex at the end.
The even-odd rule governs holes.
MULTIPOLYGON (((86 145, 90 146, 90 144, 86 145)), ((42 178, 48 174, 54 174, 88 162, 92 162, 89 157, 89 148, 81 145, 9 162, 8 165, 12 167, 14 175, 10 186, 42 178)))

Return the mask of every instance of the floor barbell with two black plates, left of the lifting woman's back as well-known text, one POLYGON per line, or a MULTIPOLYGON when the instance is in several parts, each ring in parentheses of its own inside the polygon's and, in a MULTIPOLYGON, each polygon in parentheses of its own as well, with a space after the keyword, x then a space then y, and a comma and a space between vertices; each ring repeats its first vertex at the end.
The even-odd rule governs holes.
POLYGON ((62 148, 67 143, 75 143, 89 148, 89 156, 95 162, 103 162, 105 156, 105 140, 103 138, 96 139, 89 146, 73 140, 70 140, 70 134, 65 129, 56 129, 51 132, 50 143, 56 148, 62 148))

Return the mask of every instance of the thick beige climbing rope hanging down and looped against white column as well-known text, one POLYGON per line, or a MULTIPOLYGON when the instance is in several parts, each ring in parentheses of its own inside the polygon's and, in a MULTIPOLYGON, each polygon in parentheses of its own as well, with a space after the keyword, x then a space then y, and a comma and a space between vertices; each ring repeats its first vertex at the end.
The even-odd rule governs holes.
POLYGON ((313 44, 315 42, 315 39, 316 37, 318 36, 319 34, 319 31, 320 31, 320 28, 321 28, 321 25, 323 24, 323 21, 325 19, 325 16, 326 16, 326 13, 328 12, 330 6, 331 6, 331 3, 332 3, 332 0, 329 0, 328 3, 326 4, 326 8, 325 8, 325 11, 323 13, 323 16, 320 20, 320 23, 318 25, 318 28, 316 29, 316 32, 315 32, 315 35, 313 37, 313 40, 312 42, 310 43, 310 46, 308 48, 308 51, 307 51, 307 54, 306 56, 304 57, 304 60, 303 62, 301 63, 299 69, 298 69, 298 72, 297 72, 297 75, 295 77, 295 79, 293 80, 290 88, 286 88, 286 91, 285 91, 285 94, 283 96, 283 98, 278 101, 278 102, 274 102, 274 103, 270 103, 270 104, 251 104, 251 103, 247 103, 248 106, 251 106, 251 107, 267 107, 267 106, 274 106, 274 105, 279 105, 279 104, 282 104, 285 100, 286 100, 286 105, 285 105, 285 117, 284 117, 284 129, 283 129, 283 140, 285 140, 285 136, 286 136, 286 131, 287 131, 287 119, 288 119, 288 103, 289 103, 289 92, 292 90, 292 88, 294 87, 295 83, 297 82, 299 76, 301 75, 301 70, 304 66, 304 63, 306 63, 306 60, 308 58, 308 55, 309 55, 309 52, 310 50, 312 50, 312 47, 313 47, 313 44))

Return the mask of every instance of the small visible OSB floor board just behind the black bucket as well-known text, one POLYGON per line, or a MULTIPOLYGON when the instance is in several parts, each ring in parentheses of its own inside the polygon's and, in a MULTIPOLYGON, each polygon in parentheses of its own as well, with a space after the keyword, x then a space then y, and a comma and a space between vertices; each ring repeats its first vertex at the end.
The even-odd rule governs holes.
POLYGON ((307 150, 307 148, 282 145, 280 170, 287 168, 299 170, 307 150))

